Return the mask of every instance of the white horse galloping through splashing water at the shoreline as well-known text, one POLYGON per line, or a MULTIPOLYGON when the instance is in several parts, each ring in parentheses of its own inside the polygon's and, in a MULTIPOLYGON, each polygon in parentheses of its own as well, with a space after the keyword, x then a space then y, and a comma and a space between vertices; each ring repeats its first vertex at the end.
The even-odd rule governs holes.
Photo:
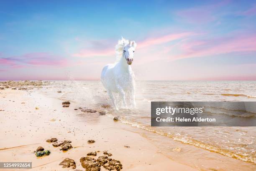
POLYGON ((115 46, 116 62, 106 65, 101 72, 101 82, 116 110, 118 107, 127 108, 128 104, 136 107, 135 80, 131 68, 135 48, 135 41, 122 37, 115 46))

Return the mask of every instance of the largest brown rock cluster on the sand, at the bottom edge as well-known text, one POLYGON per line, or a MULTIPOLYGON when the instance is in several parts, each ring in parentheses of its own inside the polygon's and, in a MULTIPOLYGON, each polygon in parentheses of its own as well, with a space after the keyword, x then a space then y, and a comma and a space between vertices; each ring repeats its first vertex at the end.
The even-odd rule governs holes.
POLYGON ((99 156, 97 160, 89 156, 81 157, 80 162, 82 167, 85 168, 86 171, 100 171, 100 166, 103 166, 109 171, 120 171, 121 169, 123 169, 123 165, 120 161, 111 159, 108 156, 99 156))

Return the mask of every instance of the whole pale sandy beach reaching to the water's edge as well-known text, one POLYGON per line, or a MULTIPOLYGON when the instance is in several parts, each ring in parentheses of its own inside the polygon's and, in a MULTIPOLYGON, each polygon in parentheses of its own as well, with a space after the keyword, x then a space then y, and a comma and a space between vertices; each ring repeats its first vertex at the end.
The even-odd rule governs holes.
MULTIPOLYGON (((59 164, 69 158, 74 160, 76 169, 84 171, 79 161, 81 157, 97 151, 97 156, 90 157, 98 159, 99 156, 105 156, 103 151, 107 151, 112 154, 109 156, 111 159, 120 161, 122 171, 255 169, 255 164, 251 162, 174 141, 164 134, 138 126, 114 121, 113 116, 118 116, 122 111, 108 115, 111 111, 108 105, 95 107, 83 102, 81 106, 76 100, 80 98, 78 95, 72 95, 73 98, 64 96, 65 93, 74 92, 73 88, 79 87, 74 87, 74 83, 66 85, 67 82, 6 82, 1 87, 7 84, 9 86, 0 90, 1 162, 32 162, 32 169, 29 170, 64 171, 72 168, 62 168, 59 164), (69 107, 62 107, 62 102, 65 101, 70 102, 69 107), (96 112, 82 112, 82 109, 87 108, 96 112), (70 140, 73 148, 61 151, 60 146, 54 147, 53 143, 46 142, 51 138, 58 141, 70 140), (88 144, 88 140, 95 140, 95 143, 88 144), (38 146, 51 153, 48 156, 36 157, 34 151, 38 146)), ((92 92, 90 84, 86 85, 89 88, 84 91, 92 92)), ((101 87, 96 91, 99 94, 104 93, 101 87)), ((89 94, 83 98, 85 101, 93 101, 89 94)), ((106 170, 103 166, 100 169, 106 170)))

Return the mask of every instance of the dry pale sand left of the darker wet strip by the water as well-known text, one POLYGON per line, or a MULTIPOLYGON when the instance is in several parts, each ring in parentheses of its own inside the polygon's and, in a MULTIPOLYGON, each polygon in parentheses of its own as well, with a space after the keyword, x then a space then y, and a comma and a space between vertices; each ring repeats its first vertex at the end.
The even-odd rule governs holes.
MULTIPOLYGON (((97 159, 108 150, 113 154, 112 159, 121 162, 122 171, 196 170, 164 155, 156 144, 143 136, 146 131, 115 122, 107 116, 95 117, 98 113, 74 110, 79 106, 72 101, 64 108, 60 99, 13 89, 1 90, 0 99, 1 162, 32 162, 29 170, 64 171, 71 168, 61 168, 59 163, 68 157, 76 162, 76 169, 85 170, 79 162, 82 156, 90 151, 100 151, 97 156, 92 156, 97 159), (60 151, 59 147, 46 142, 50 138, 71 140, 74 148, 60 151), (95 143, 88 144, 90 139, 95 143), (51 154, 36 157, 33 151, 38 146, 50 150, 51 154)), ((101 167, 101 170, 105 169, 101 167)))

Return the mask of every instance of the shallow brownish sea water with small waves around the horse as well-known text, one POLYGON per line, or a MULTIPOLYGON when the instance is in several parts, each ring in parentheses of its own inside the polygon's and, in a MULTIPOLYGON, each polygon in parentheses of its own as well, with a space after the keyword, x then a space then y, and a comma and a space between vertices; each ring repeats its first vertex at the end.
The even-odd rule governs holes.
MULTIPOLYGON (((102 104, 110 104, 100 81, 56 81, 43 89, 49 95, 58 90, 63 92, 59 94, 61 99, 81 107, 102 109, 102 104)), ((108 116, 121 116, 125 124, 256 164, 255 127, 151 127, 151 101, 256 101, 256 81, 137 81, 136 109, 104 108, 108 116)), ((231 113, 220 114, 223 119, 238 117, 231 113)), ((255 114, 248 117, 255 118, 255 114)), ((166 141, 158 143, 168 146, 166 141)))

